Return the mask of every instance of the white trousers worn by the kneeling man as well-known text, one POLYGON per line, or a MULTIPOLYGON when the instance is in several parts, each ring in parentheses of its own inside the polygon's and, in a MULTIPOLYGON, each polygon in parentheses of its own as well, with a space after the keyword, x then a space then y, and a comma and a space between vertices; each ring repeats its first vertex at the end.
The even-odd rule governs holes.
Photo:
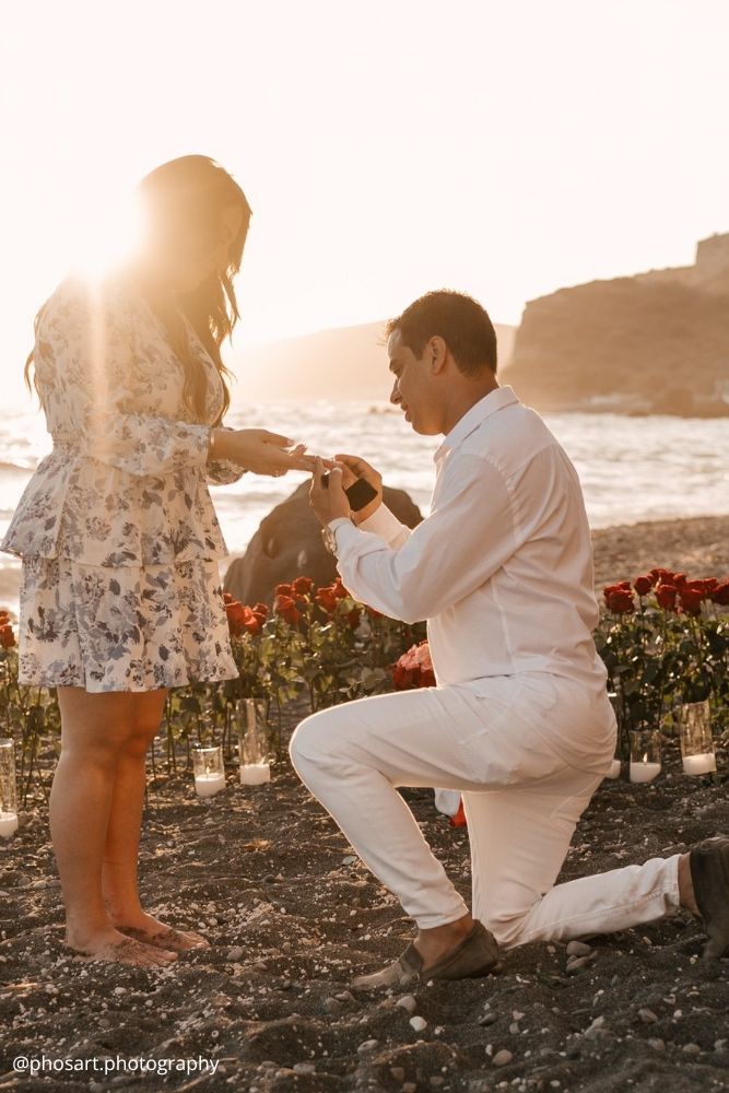
POLYGON ((455 921, 468 907, 396 787, 459 789, 472 914, 510 949, 678 912, 678 855, 554 884, 614 741, 604 687, 533 672, 333 706, 302 721, 291 756, 421 929, 455 921))

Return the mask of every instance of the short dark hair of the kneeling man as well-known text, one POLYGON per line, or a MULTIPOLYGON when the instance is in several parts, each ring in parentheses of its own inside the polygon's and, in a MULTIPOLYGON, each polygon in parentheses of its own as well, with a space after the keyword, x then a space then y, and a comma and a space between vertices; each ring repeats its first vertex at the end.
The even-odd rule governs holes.
POLYGON ((465 293, 448 289, 426 293, 397 319, 390 319, 387 337, 396 330, 418 357, 423 355, 431 338, 438 334, 463 375, 477 376, 485 368, 496 373, 494 325, 485 308, 465 293))

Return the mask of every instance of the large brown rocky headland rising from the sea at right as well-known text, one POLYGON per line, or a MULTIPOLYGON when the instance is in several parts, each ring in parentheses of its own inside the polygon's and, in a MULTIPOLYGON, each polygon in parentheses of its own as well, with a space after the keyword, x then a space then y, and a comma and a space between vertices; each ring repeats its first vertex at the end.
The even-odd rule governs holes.
POLYGON ((694 266, 532 301, 507 380, 539 410, 729 415, 729 235, 694 266))

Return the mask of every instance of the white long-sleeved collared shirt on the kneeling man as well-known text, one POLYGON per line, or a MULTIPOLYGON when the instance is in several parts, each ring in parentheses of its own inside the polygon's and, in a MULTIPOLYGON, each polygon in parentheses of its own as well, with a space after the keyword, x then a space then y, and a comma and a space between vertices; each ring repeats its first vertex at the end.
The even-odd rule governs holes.
POLYGON ((550 672, 604 686, 592 551, 577 472, 510 387, 491 391, 435 454, 431 515, 412 531, 380 505, 332 529, 358 600, 427 620, 439 684, 550 672))

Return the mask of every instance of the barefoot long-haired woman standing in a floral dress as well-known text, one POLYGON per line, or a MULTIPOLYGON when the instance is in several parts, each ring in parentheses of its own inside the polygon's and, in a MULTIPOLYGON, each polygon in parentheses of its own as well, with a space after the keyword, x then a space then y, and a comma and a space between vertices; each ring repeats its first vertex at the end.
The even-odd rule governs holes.
POLYGON ((68 944, 158 965, 208 942, 140 903, 146 750, 169 687, 237 675, 207 483, 311 461, 286 437, 221 427, 243 190, 190 155, 153 171, 139 196, 133 260, 93 284, 68 278, 36 317, 26 378, 34 365, 54 447, 2 549, 23 560, 20 681, 58 687, 50 830, 68 944))

